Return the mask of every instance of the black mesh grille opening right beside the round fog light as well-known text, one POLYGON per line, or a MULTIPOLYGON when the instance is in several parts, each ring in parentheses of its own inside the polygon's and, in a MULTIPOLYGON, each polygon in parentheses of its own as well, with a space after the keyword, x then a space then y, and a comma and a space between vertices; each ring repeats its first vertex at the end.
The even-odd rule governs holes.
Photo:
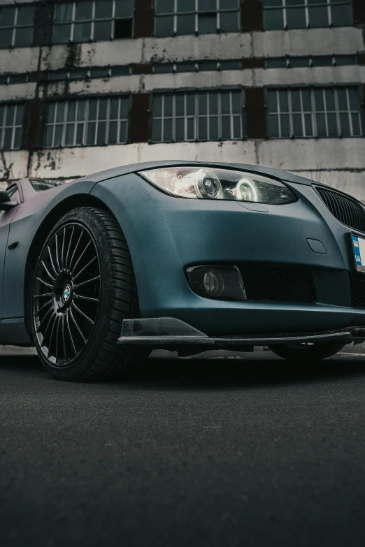
POLYGON ((312 272, 300 268, 284 268, 265 264, 241 267, 248 300, 276 302, 317 301, 312 272))

